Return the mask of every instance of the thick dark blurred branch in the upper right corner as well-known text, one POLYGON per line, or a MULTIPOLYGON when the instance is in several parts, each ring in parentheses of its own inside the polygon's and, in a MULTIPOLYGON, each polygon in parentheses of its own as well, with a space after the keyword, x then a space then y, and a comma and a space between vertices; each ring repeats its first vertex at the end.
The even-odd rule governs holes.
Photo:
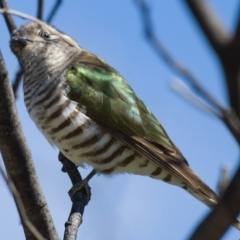
POLYGON ((236 33, 223 28, 213 10, 206 1, 185 0, 212 48, 215 50, 224 71, 230 105, 240 117, 240 26, 239 20, 236 33))

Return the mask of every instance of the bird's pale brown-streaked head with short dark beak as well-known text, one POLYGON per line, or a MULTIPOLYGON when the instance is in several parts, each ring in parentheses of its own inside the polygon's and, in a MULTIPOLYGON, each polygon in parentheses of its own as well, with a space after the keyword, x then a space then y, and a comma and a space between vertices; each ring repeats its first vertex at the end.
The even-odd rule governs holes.
POLYGON ((48 63, 52 65, 65 55, 68 58, 69 55, 74 55, 74 52, 81 51, 71 37, 47 24, 37 22, 24 24, 15 30, 10 47, 23 68, 26 67, 26 62, 29 64, 29 60, 45 64, 50 60, 48 63))

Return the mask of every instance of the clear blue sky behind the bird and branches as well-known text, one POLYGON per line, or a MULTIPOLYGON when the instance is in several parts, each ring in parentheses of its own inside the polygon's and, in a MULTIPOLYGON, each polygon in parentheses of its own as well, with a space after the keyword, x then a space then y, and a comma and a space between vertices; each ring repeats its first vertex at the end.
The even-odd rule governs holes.
MULTIPOLYGON (((233 30, 238 1, 209 0, 223 24, 233 30)), ((36 14, 37 1, 9 1, 11 8, 36 14)), ((215 53, 183 1, 149 0, 157 36, 201 84, 224 106, 226 86, 215 53)), ((45 1, 45 17, 54 1, 45 1)), ((17 26, 26 22, 15 17, 17 26)), ((53 25, 76 39, 117 69, 161 121, 194 171, 214 190, 223 165, 231 174, 238 166, 238 145, 224 124, 182 99, 170 88, 176 77, 146 41, 133 1, 64 1, 53 25)), ((0 48, 9 75, 19 64, 9 49, 9 33, 0 16, 0 48)), ((231 61, 231 59, 229 59, 231 61)), ((52 217, 62 238, 71 202, 71 187, 61 172, 58 151, 52 148, 30 120, 19 90, 17 108, 34 164, 52 217)), ((81 169, 86 176, 90 168, 81 169)), ((186 239, 209 209, 182 189, 148 177, 117 175, 94 177, 92 199, 85 208, 78 239, 146 240, 186 239)), ((15 204, 0 180, 0 238, 25 239, 15 204)), ((230 228, 222 238, 239 239, 230 228)))

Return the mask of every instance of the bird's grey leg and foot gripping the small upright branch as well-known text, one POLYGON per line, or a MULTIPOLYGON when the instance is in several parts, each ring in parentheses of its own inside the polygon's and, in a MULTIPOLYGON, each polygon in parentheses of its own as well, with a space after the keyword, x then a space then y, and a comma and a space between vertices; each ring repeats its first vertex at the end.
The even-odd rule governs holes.
POLYGON ((73 200, 73 197, 75 195, 75 193, 79 190, 82 190, 83 188, 85 188, 86 191, 86 205, 88 204, 88 202, 91 199, 91 188, 88 185, 89 180, 96 174, 95 169, 93 169, 88 175, 87 177, 82 180, 81 182, 78 182, 76 184, 73 185, 73 187, 68 191, 68 194, 70 196, 70 198, 73 200))

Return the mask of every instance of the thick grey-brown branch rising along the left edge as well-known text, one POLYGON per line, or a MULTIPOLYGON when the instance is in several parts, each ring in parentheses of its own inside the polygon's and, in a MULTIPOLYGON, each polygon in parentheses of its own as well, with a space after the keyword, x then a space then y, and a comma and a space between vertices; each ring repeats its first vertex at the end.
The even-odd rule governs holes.
MULTIPOLYGON (((7 173, 21 194, 29 220, 38 227, 45 238, 59 239, 37 179, 31 153, 23 136, 12 88, 1 53, 0 151, 7 173)), ((30 239, 32 233, 25 225, 24 231, 26 238, 30 239)))

